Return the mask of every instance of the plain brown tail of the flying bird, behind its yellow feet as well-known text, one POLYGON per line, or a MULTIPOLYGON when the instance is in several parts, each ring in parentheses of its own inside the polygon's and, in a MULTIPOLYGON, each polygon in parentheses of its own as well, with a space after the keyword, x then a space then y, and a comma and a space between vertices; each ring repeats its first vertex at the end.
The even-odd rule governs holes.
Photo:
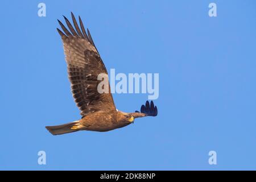
POLYGON ((64 125, 46 126, 46 129, 53 135, 62 135, 62 134, 66 134, 66 133, 72 133, 75 131, 79 131, 76 129, 71 129, 78 122, 79 121, 74 121, 74 122, 66 123, 64 125))

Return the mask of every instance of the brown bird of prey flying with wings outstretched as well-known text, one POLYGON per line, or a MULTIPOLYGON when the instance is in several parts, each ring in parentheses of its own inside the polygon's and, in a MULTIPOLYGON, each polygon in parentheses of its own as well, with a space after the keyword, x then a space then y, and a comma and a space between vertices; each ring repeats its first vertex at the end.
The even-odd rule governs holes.
POLYGON ((65 60, 68 65, 68 78, 77 107, 81 110, 82 118, 59 126, 46 126, 53 135, 72 133, 75 131, 110 131, 134 122, 134 118, 156 116, 158 109, 154 103, 146 101, 141 111, 125 113, 115 108, 112 94, 99 93, 97 79, 100 73, 106 73, 106 67, 93 43, 92 36, 87 34, 79 16, 80 27, 75 16, 71 13, 72 24, 64 16, 68 28, 58 20, 63 31, 57 28, 63 45, 65 60), (69 30, 68 30, 69 29, 69 30))

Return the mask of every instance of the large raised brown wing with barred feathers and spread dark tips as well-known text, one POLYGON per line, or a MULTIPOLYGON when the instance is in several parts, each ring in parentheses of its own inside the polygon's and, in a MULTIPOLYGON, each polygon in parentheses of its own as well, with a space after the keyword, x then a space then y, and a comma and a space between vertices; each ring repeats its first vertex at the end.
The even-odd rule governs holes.
POLYGON ((76 105, 81 110, 80 114, 84 117, 88 113, 93 113, 97 110, 115 110, 110 86, 108 85, 109 93, 100 94, 97 90, 97 86, 101 82, 97 80, 98 75, 100 73, 108 75, 108 72, 93 43, 92 36, 88 29, 88 35, 86 34, 80 16, 81 30, 73 13, 71 15, 76 30, 64 16, 69 30, 58 20, 64 32, 59 28, 57 28, 57 31, 63 41, 71 90, 76 105))

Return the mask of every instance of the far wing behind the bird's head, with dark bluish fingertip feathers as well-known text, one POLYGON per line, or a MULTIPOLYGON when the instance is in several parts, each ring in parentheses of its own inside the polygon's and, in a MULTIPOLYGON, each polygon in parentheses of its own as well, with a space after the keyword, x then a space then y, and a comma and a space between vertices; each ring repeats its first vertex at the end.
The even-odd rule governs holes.
POLYGON ((135 111, 135 113, 132 113, 132 115, 134 118, 156 116, 158 115, 158 107, 154 105, 153 101, 150 103, 146 101, 146 104, 141 106, 141 112, 135 111))

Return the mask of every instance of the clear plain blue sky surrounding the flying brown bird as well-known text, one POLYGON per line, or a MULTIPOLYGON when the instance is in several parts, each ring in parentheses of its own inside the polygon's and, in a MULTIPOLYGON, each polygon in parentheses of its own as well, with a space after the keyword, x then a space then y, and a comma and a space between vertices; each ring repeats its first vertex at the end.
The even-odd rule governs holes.
MULTIPOLYGON (((255 1, 2 1, 0 169, 256 169, 255 1), (47 6, 39 17, 38 3, 47 6), (217 4, 210 18, 208 5, 217 4), (80 15, 108 71, 159 73, 158 117, 52 136, 80 118, 56 27, 80 15), (38 164, 38 151, 47 164, 38 164), (217 152, 217 165, 208 152, 217 152)), ((138 110, 147 94, 114 94, 138 110)))

